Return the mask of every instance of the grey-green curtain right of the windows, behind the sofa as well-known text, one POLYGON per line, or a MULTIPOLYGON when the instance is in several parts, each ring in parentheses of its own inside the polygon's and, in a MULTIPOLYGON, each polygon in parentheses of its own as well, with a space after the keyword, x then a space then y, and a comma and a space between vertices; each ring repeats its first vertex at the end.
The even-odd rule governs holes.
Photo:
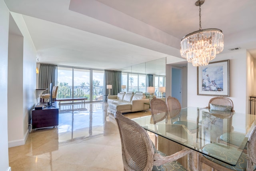
POLYGON ((104 70, 104 95, 108 95, 107 85, 112 85, 111 95, 117 95, 121 91, 122 72, 104 70))

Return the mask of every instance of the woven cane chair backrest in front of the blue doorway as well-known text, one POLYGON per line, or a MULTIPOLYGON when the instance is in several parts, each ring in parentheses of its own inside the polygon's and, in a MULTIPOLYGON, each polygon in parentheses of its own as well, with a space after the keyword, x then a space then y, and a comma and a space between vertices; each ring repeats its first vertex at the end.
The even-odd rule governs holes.
POLYGON ((166 99, 170 117, 175 117, 180 113, 178 109, 181 109, 181 105, 178 99, 175 97, 168 96, 166 99))

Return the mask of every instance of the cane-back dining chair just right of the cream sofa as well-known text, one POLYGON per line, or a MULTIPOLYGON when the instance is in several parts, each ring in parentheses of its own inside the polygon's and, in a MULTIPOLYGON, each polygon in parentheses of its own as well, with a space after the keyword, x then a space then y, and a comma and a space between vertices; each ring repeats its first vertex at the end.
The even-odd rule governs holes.
MULTIPOLYGON (((156 124, 157 122, 160 122, 164 119, 166 119, 166 123, 167 123, 167 117, 168 117, 168 107, 165 103, 165 101, 161 100, 161 99, 157 99, 156 97, 154 97, 151 101, 150 101, 150 109, 151 109, 151 115, 152 115, 152 122, 154 124, 156 124)), ((157 129, 157 127, 155 127, 155 129, 157 129)), ((157 143, 158 143, 158 135, 155 134, 155 147, 157 149, 157 143)))

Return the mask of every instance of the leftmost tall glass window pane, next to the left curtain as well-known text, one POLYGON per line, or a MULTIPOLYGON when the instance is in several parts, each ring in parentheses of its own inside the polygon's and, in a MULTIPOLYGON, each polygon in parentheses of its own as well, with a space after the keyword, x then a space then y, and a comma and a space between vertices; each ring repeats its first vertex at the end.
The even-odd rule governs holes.
POLYGON ((57 99, 72 97, 72 68, 58 67, 57 99))

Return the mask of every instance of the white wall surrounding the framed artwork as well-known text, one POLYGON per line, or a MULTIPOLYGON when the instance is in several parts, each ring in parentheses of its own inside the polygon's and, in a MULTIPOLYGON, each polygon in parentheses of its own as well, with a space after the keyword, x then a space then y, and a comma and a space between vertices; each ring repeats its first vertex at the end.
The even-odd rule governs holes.
MULTIPOLYGON (((230 99, 236 112, 246 113, 246 50, 236 50, 218 54, 213 61, 230 60, 230 99)), ((206 107, 214 96, 197 95, 196 67, 188 63, 188 106, 206 107)))

